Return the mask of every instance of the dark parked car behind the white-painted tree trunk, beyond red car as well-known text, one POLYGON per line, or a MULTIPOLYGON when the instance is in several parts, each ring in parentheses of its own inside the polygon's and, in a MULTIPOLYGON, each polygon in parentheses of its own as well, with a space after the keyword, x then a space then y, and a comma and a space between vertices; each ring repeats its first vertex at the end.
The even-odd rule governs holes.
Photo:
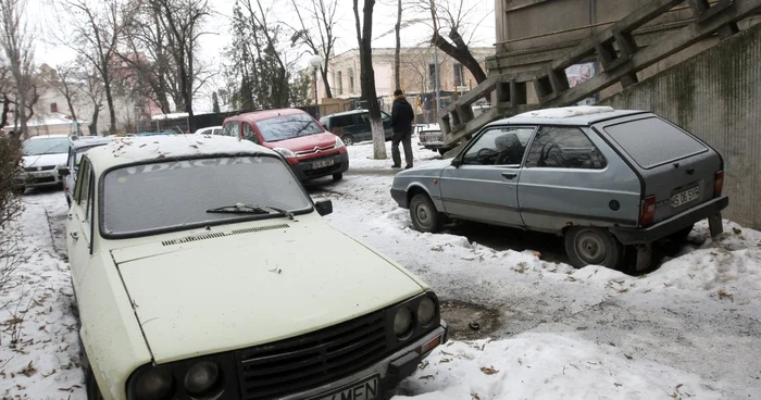
MULTIPOLYGON (((394 136, 391 116, 382 111, 380 118, 383 120, 386 140, 391 140, 394 136)), ((346 146, 373 139, 373 133, 370 128, 370 111, 367 110, 353 110, 326 115, 320 118, 320 123, 325 129, 340 137, 346 146)))

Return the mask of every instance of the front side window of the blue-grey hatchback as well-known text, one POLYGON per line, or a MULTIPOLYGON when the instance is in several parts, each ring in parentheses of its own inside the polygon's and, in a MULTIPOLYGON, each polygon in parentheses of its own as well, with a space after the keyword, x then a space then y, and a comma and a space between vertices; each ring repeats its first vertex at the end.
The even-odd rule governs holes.
POLYGON ((463 155, 465 165, 520 165, 533 127, 496 127, 482 134, 463 155))

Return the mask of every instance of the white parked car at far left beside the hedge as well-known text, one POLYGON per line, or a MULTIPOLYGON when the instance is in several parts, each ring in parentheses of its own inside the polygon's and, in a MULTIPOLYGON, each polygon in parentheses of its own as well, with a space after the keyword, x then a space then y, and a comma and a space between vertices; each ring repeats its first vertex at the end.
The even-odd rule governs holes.
POLYGON ((15 180, 20 192, 26 188, 62 185, 59 170, 66 165, 68 136, 33 136, 24 140, 21 154, 24 171, 15 180))

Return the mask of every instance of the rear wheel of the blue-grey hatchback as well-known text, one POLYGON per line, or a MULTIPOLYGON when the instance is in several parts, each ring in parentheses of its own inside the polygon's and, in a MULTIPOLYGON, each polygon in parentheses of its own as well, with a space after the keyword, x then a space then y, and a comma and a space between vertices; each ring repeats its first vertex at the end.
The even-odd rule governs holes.
POLYGON ((608 229, 574 227, 565 233, 565 253, 577 268, 602 265, 615 268, 623 259, 623 246, 608 229))

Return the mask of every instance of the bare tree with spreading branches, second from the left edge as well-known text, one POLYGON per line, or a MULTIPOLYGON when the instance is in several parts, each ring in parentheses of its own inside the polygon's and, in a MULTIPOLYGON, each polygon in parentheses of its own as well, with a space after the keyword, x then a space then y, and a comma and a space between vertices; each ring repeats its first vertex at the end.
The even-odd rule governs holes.
POLYGON ((62 0, 61 4, 62 12, 70 16, 66 24, 73 29, 73 37, 59 40, 74 49, 97 71, 109 108, 109 133, 113 135, 116 133, 113 83, 118 78, 116 50, 134 9, 126 7, 122 0, 62 0))

